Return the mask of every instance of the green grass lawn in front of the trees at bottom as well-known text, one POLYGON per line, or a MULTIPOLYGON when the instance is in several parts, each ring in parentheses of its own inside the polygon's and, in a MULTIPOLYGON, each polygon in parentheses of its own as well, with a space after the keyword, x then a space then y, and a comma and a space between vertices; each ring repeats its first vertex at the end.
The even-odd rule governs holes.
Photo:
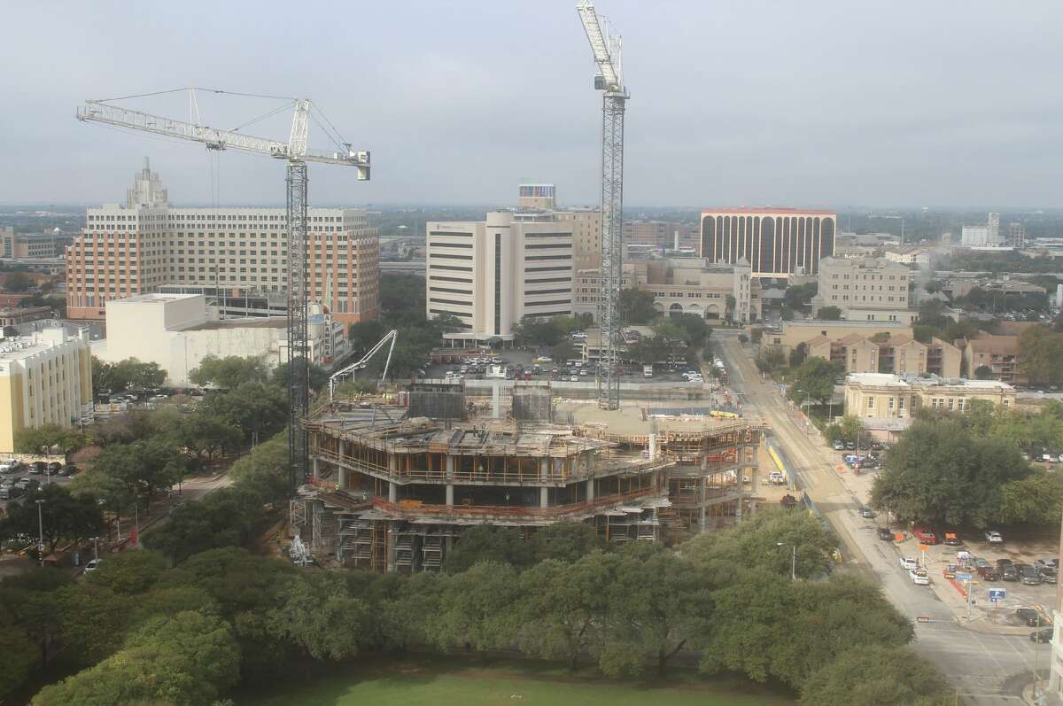
POLYGON ((664 685, 568 676, 541 662, 405 658, 332 672, 310 684, 235 694, 239 706, 782 706, 795 700, 741 679, 677 676, 664 685))

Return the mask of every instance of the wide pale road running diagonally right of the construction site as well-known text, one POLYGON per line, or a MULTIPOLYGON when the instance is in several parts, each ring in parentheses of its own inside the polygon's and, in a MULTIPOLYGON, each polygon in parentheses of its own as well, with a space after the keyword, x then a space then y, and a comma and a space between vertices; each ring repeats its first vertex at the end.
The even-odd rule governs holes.
MULTIPOLYGON (((958 689, 964 703, 989 706, 1024 703, 1023 686, 1033 669, 1047 675, 1050 648, 1035 645, 1026 634, 997 635, 975 632, 957 622, 952 610, 932 589, 915 586, 902 573, 897 551, 877 539, 876 523, 863 520, 860 503, 833 470, 837 456, 816 437, 810 437, 778 387, 765 384, 753 364, 755 351, 738 341, 737 333, 714 332, 730 386, 742 400, 747 416, 759 416, 794 466, 796 481, 833 526, 843 543, 847 565, 879 582, 887 598, 915 621, 915 650, 935 663, 958 689)), ((814 432, 813 432, 814 433, 814 432)))

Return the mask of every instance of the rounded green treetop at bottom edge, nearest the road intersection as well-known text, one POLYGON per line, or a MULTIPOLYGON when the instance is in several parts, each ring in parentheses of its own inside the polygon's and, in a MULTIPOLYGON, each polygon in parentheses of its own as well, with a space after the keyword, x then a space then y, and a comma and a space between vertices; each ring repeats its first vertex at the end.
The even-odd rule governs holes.
POLYGON ((839 654, 800 689, 802 706, 946 706, 951 689, 905 646, 867 645, 839 654))

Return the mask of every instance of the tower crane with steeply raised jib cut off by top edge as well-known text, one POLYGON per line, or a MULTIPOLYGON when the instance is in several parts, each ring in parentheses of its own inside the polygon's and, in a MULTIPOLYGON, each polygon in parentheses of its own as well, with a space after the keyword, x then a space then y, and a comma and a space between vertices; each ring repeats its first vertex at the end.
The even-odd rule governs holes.
POLYGON ((623 343, 620 316, 620 288, 623 276, 623 211, 624 211, 624 110, 629 95, 624 86, 621 63, 621 37, 606 34, 593 0, 578 0, 576 12, 587 32, 597 73, 594 89, 602 98, 602 297, 598 300, 598 323, 604 350, 597 372, 598 406, 620 407, 620 372, 617 364, 623 343))

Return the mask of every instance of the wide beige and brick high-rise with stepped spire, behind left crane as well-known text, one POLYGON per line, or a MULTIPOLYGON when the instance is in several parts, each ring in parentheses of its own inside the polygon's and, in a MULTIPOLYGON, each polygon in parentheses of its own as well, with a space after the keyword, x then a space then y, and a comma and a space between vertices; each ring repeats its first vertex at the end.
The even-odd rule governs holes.
MULTIPOLYGON (((344 326, 378 307, 379 246, 365 211, 309 208, 309 291, 344 326)), ((145 159, 124 204, 86 212, 67 250, 67 312, 103 319, 105 304, 164 286, 208 296, 283 292, 288 284, 284 208, 170 205, 145 159)))

